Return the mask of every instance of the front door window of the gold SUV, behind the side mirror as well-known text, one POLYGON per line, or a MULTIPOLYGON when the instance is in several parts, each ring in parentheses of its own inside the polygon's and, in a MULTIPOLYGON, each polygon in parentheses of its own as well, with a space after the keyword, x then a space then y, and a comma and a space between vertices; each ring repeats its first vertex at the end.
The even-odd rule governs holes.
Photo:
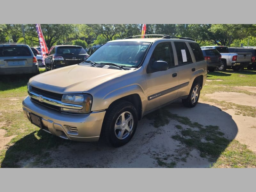
POLYGON ((172 44, 170 42, 159 43, 150 58, 151 61, 166 61, 169 68, 174 66, 174 56, 172 51, 172 44))

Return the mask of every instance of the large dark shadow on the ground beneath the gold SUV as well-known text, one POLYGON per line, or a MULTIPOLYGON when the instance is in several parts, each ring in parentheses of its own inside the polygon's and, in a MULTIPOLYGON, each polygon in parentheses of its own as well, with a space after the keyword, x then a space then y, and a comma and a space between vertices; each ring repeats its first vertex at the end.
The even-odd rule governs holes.
POLYGON ((178 101, 144 116, 122 147, 64 140, 39 130, 12 145, 1 167, 210 167, 236 134, 232 116, 220 108, 204 103, 185 108, 178 101))

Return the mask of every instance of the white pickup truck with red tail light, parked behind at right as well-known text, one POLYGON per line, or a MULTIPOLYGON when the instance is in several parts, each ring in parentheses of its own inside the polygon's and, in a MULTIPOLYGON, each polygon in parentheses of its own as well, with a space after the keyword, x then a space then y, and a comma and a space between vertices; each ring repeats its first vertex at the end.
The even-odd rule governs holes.
POLYGON ((225 71, 227 68, 239 70, 250 65, 252 53, 230 53, 227 46, 203 46, 201 48, 217 49, 221 54, 220 71, 225 71))

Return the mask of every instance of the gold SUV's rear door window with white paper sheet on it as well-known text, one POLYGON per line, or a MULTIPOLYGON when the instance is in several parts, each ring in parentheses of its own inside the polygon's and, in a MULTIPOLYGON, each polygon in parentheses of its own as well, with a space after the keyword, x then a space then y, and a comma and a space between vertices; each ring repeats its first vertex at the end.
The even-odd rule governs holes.
POLYGON ((192 63, 192 58, 190 55, 190 52, 188 50, 188 46, 186 45, 185 42, 174 42, 176 52, 177 52, 177 57, 178 57, 178 64, 188 64, 192 63))

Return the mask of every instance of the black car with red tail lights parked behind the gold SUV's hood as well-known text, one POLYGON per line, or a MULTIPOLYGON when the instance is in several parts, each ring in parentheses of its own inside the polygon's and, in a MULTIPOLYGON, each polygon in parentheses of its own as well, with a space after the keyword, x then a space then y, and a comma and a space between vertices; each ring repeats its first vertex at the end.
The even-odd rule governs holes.
POLYGON ((89 57, 83 47, 77 45, 54 45, 44 59, 45 70, 52 70, 83 62, 89 57))

